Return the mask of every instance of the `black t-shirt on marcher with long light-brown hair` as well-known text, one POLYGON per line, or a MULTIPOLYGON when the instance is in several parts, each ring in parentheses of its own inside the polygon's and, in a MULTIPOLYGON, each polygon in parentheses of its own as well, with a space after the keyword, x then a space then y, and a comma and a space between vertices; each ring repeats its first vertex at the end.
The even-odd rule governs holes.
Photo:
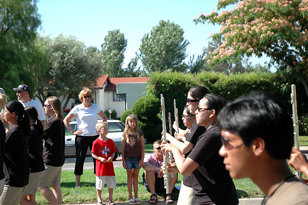
POLYGON ((64 123, 56 119, 54 116, 44 127, 46 133, 43 136, 45 140, 44 162, 50 166, 62 166, 65 161, 65 127, 64 123))

